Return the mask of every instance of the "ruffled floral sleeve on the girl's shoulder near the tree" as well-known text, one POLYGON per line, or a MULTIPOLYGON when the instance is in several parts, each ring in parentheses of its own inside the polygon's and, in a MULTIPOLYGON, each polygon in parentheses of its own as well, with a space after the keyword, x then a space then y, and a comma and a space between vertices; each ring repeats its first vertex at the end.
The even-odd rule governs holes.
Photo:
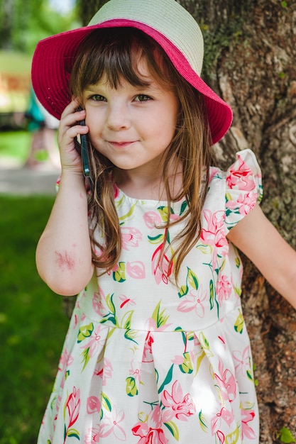
POLYGON ((236 162, 226 172, 226 234, 260 202, 263 196, 261 169, 251 150, 236 153, 236 162))

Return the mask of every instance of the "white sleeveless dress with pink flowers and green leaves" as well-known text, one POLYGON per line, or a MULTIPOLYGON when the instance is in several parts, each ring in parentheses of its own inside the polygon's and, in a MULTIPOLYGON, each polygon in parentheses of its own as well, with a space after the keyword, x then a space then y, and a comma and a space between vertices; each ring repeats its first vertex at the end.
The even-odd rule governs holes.
MULTIPOLYGON (((242 265, 226 235, 261 190, 251 150, 227 172, 211 168, 202 233, 177 286, 168 257, 159 265, 166 202, 115 187, 121 258, 77 298, 38 444, 258 443, 242 265)), ((175 202, 172 219, 186 207, 175 202)))

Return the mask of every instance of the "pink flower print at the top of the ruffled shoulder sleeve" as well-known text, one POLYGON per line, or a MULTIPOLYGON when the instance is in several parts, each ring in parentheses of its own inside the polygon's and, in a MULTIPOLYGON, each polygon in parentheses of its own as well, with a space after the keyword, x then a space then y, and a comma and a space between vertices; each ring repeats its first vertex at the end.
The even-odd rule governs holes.
POLYGON ((229 188, 236 188, 251 192, 256 187, 253 172, 239 156, 233 168, 229 168, 226 184, 229 188))

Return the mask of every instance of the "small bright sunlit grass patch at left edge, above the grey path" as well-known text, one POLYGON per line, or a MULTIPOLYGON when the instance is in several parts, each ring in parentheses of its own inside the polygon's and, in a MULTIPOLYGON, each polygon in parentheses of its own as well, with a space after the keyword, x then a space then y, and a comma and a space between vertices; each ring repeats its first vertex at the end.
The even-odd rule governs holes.
POLYGON ((31 143, 31 133, 28 131, 0 132, 0 157, 11 157, 26 162, 31 143))

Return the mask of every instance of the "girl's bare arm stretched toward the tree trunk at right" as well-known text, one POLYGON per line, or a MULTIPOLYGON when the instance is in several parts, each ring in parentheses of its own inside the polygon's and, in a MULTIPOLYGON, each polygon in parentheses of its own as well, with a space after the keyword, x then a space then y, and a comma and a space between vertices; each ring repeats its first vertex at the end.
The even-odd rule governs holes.
POLYGON ((227 238, 296 309, 296 252, 264 216, 258 204, 231 229, 227 238))

